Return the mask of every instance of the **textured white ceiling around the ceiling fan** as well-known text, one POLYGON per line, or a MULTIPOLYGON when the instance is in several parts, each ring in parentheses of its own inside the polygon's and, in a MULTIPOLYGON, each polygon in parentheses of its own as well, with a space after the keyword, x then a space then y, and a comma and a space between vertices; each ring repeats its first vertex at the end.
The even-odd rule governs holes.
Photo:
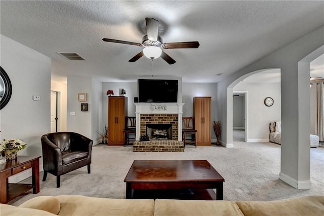
POLYGON ((56 80, 134 82, 153 75, 218 82, 324 25, 323 1, 1 1, 0 7, 1 34, 49 56, 56 80), (165 43, 199 41, 200 47, 164 50, 177 61, 169 65, 161 58, 128 62, 140 47, 102 41, 141 43, 145 17, 163 24, 165 43))

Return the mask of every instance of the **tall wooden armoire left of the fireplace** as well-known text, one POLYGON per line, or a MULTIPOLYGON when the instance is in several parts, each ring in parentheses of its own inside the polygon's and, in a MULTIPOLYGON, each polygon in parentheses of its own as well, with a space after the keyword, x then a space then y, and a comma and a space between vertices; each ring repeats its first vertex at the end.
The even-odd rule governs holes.
POLYGON ((108 97, 108 146, 124 146, 127 97, 108 97))

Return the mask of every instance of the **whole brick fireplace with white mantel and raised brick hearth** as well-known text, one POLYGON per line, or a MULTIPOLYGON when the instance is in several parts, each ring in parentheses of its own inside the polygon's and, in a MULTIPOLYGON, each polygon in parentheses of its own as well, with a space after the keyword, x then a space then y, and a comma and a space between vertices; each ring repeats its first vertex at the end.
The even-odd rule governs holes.
POLYGON ((136 105, 136 141, 133 151, 140 152, 183 152, 182 142, 182 106, 183 103, 135 103, 136 105), (180 121, 179 121, 180 120, 180 121), (154 126, 151 126, 154 125, 154 126), (161 126, 158 126, 161 125, 161 126), (168 138, 139 141, 147 131, 166 130, 171 127, 168 138), (148 129, 152 128, 152 129, 148 129))

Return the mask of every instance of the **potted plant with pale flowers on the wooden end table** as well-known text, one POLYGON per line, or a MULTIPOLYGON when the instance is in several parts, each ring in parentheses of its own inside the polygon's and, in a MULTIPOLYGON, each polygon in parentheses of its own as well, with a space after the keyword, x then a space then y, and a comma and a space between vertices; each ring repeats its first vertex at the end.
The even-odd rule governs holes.
POLYGON ((26 143, 21 139, 4 139, 0 144, 0 152, 2 156, 6 156, 6 160, 17 159, 17 152, 26 148, 26 143))

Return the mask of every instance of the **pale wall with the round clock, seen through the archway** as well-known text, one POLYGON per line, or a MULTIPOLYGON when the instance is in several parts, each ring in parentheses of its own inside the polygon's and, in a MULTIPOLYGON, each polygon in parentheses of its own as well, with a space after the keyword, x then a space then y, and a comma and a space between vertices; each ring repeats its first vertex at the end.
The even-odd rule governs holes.
MULTIPOLYGON (((233 91, 248 91, 248 128, 249 140, 269 141, 269 123, 281 120, 281 88, 280 83, 238 83, 233 91), (272 106, 264 105, 264 98, 272 97, 272 106)), ((234 118, 233 100, 233 118, 234 118)), ((233 125, 234 126, 234 125, 233 125)))

